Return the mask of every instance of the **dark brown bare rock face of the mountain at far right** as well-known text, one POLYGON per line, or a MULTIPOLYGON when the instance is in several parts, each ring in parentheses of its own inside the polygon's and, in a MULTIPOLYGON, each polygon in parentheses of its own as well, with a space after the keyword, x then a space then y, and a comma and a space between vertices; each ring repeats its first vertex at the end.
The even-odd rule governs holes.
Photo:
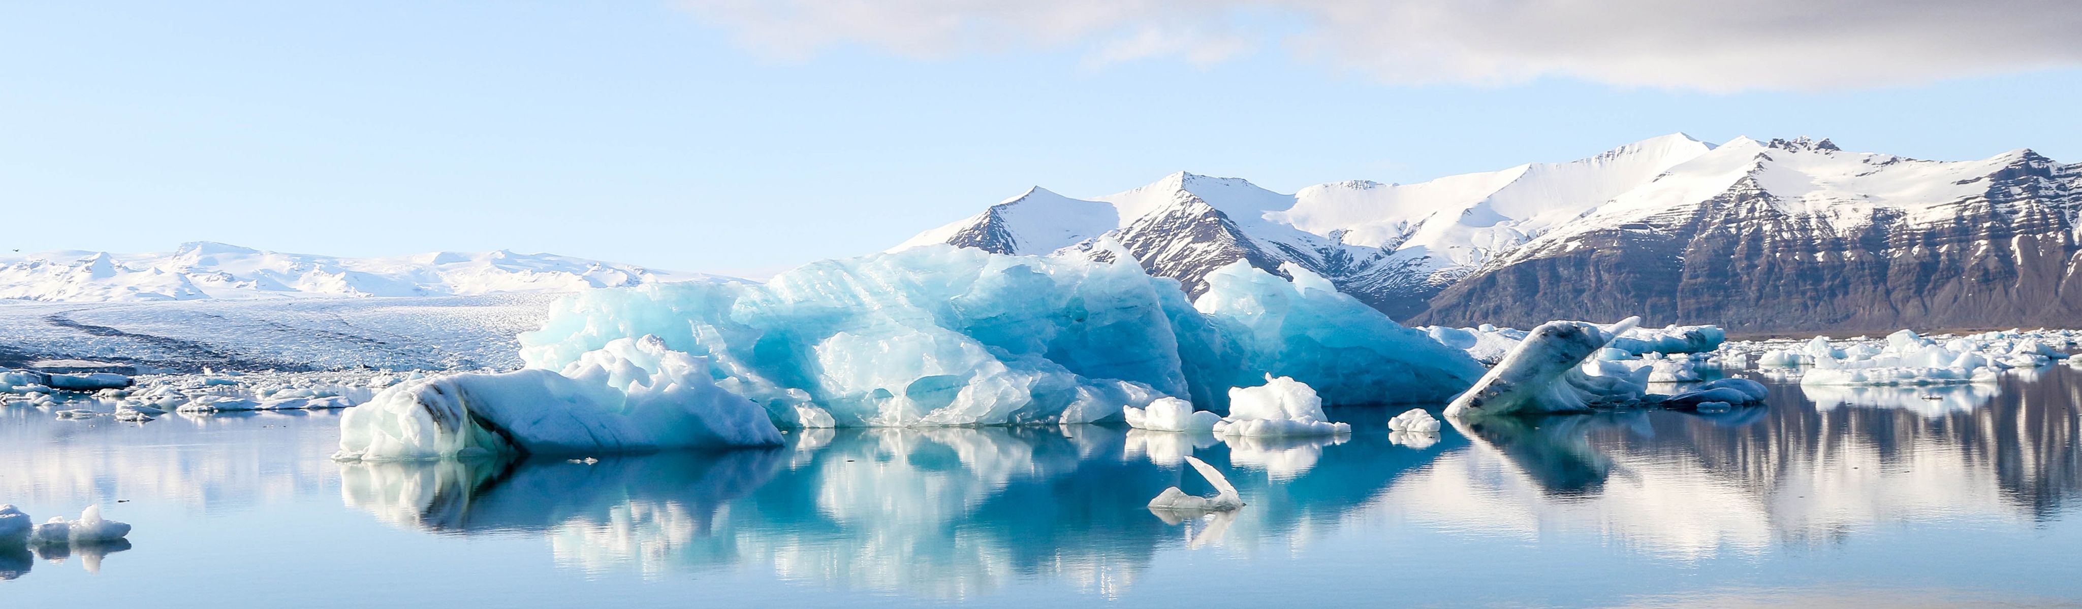
POLYGON ((1970 181, 1980 193, 1861 216, 1788 210, 1747 177, 1695 206, 1499 260, 1441 291, 1414 322, 1641 314, 1759 333, 2076 326, 2078 175, 2020 152, 1970 181))

